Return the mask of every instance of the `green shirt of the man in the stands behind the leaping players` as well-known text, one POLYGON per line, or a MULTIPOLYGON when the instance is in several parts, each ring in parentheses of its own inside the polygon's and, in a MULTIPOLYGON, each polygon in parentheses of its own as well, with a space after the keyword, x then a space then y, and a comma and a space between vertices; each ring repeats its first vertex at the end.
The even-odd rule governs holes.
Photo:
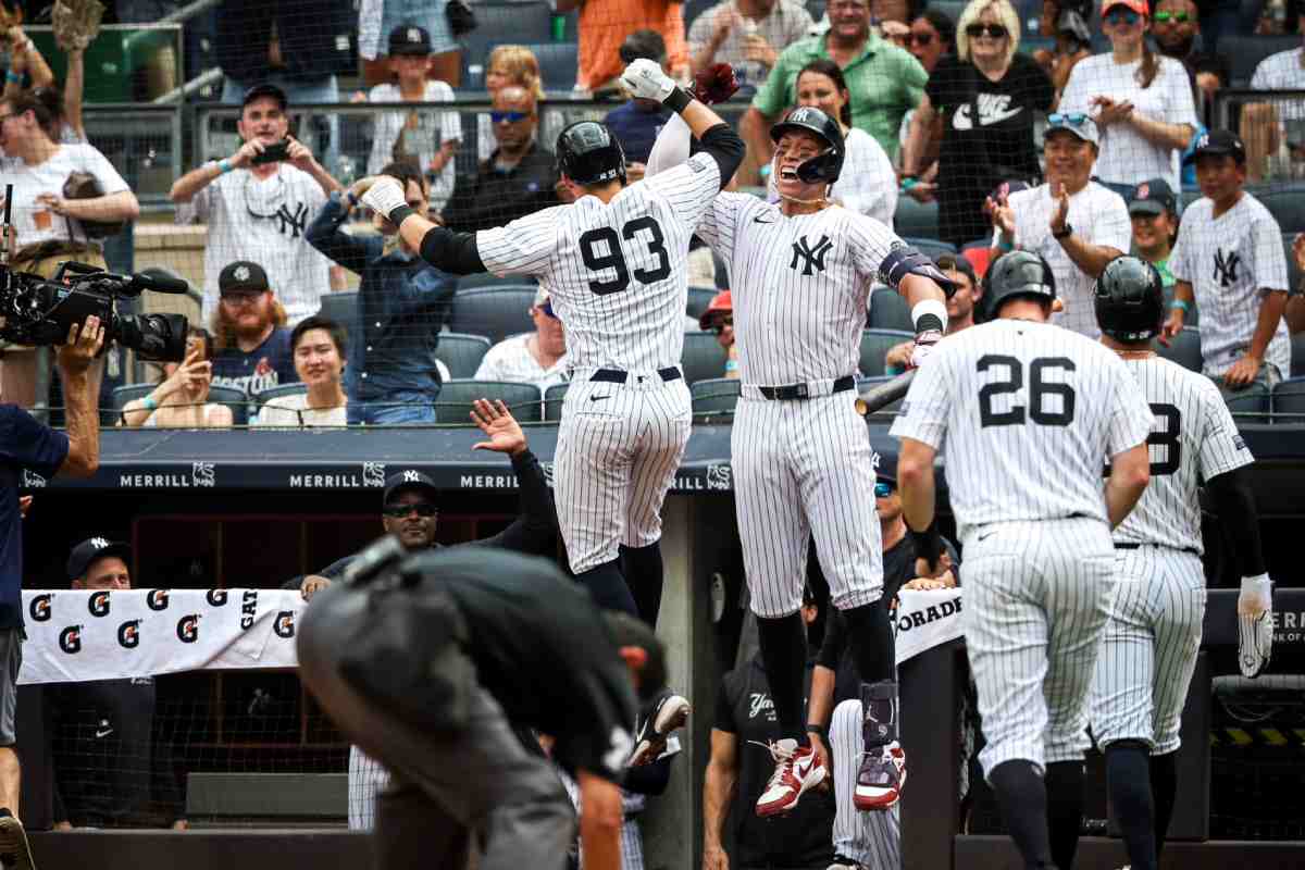
MULTIPOLYGON (((799 39, 786 48, 770 77, 757 89, 752 107, 775 119, 796 103, 797 73, 818 57, 829 59, 825 37, 799 39)), ((843 67, 843 77, 852 94, 852 127, 873 136, 889 158, 895 159, 902 116, 920 104, 929 73, 911 52, 870 33, 861 53, 843 67)))

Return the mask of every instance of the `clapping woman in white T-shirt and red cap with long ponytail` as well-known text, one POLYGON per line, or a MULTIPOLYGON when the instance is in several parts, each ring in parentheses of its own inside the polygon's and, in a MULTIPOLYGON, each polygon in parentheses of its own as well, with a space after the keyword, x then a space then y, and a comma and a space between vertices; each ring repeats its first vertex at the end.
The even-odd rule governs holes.
POLYGON ((1075 64, 1060 102, 1061 113, 1096 121, 1096 176, 1121 192, 1155 177, 1180 189, 1180 158, 1199 124, 1186 68, 1151 50, 1150 26, 1146 0, 1105 0, 1111 53, 1075 64))

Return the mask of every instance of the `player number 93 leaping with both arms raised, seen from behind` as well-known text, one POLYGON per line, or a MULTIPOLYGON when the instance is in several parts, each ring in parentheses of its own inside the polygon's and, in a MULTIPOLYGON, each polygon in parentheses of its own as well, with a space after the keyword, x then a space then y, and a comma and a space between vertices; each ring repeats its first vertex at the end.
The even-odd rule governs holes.
MULTIPOLYGON (((744 145, 656 63, 634 60, 621 81, 633 97, 679 112, 702 153, 656 180, 626 185, 611 130, 572 124, 557 137, 557 164, 576 202, 475 235, 427 220, 389 179, 363 201, 445 271, 535 275, 551 293, 573 365, 553 464, 559 526, 572 571, 595 600, 634 613, 619 560, 630 584, 652 587, 641 600, 660 600, 662 502, 692 427, 679 368, 689 239, 744 145)), ((642 616, 656 620, 655 612, 642 616)))

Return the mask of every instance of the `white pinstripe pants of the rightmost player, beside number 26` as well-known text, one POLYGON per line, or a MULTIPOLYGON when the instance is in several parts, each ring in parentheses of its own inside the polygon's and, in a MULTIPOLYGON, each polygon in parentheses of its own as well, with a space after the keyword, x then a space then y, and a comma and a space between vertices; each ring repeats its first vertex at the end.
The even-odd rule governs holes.
POLYGON ((1116 550, 1118 583, 1092 680, 1092 733, 1103 749, 1139 740, 1178 749, 1188 685, 1206 616, 1206 575, 1195 553, 1167 547, 1116 550))

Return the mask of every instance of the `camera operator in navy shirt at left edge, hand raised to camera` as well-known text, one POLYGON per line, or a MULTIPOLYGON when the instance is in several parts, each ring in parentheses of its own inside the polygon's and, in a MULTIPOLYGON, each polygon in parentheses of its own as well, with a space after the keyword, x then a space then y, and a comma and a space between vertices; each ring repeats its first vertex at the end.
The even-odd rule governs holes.
MULTIPOLYGON (((0 121, 12 124, 13 121, 0 121)), ((0 854, 30 867, 27 835, 18 820, 18 755, 14 753, 17 677, 22 664, 22 527, 18 487, 23 471, 43 477, 90 477, 99 468, 99 390, 87 374, 104 344, 98 317, 68 333, 59 348, 68 432, 37 423, 14 404, 0 404, 0 854)))

